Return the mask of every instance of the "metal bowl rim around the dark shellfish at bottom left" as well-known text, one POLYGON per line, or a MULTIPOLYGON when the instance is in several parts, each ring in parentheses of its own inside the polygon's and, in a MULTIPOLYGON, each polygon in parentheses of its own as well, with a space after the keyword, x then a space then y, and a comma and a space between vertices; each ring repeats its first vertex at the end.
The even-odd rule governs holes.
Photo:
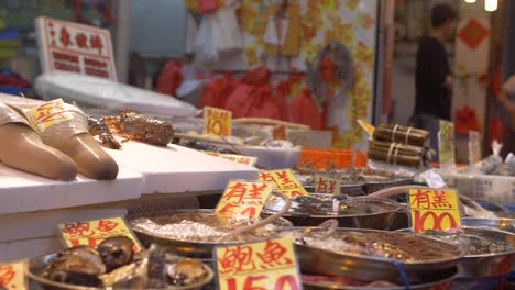
MULTIPOLYGON (((58 257, 58 254, 50 254, 33 258, 29 261, 29 270, 26 276, 29 278, 29 289, 31 290, 108 290, 110 288, 92 288, 84 286, 67 285, 62 282, 55 282, 42 277, 46 267, 52 264, 54 259, 58 257)), ((168 287, 166 289, 171 290, 196 290, 201 289, 204 286, 211 282, 215 277, 215 272, 207 265, 204 265, 205 270, 207 271, 206 278, 191 283, 188 286, 182 287, 168 287)))

